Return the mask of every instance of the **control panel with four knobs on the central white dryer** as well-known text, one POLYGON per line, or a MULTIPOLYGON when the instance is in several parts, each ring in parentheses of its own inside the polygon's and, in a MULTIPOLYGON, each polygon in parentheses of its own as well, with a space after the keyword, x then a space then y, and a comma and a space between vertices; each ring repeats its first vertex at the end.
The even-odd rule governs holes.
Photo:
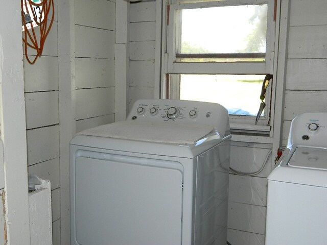
POLYGON ((220 135, 229 132, 228 111, 216 103, 182 100, 138 100, 126 120, 168 121, 213 125, 220 135))

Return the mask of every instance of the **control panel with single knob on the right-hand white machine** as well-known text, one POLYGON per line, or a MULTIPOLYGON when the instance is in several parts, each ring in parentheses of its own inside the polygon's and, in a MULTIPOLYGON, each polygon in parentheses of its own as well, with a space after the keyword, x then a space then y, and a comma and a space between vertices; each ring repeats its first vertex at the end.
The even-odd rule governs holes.
POLYGON ((292 120, 287 147, 327 148, 327 112, 308 112, 292 120))

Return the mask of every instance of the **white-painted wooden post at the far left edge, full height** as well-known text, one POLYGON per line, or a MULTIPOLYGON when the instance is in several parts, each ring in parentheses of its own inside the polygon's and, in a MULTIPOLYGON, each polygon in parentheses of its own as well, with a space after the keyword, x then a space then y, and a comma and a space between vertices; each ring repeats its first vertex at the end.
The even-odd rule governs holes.
POLYGON ((0 230, 5 232, 8 244, 29 245, 31 242, 20 2, 2 2, 0 16, 0 130, 4 142, 3 200, 6 208, 5 228, 0 230))

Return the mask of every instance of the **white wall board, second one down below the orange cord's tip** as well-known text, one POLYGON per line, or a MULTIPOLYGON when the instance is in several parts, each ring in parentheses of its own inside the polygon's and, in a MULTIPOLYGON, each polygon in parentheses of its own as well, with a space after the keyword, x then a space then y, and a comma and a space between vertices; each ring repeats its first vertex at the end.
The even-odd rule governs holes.
POLYGON ((26 128, 59 123, 58 91, 26 93, 26 128))

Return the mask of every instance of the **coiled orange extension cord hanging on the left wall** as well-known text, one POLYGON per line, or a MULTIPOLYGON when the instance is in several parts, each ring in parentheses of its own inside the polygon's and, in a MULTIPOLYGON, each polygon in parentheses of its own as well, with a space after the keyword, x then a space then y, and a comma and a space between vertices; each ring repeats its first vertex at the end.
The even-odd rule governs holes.
POLYGON ((35 61, 37 60, 37 58, 42 55, 44 42, 45 42, 45 39, 48 36, 48 34, 50 32, 50 29, 52 27, 54 16, 55 16, 55 9, 54 9, 53 0, 43 0, 39 4, 34 3, 32 0, 21 0, 21 20, 22 20, 22 24, 23 24, 23 26, 25 28, 24 36, 22 38, 22 41, 23 41, 24 46, 25 46, 26 59, 30 64, 34 64, 35 61), (32 23, 31 23, 31 29, 30 30, 27 29, 26 25, 28 23, 26 23, 25 13, 23 11, 23 4, 24 3, 25 3, 27 12, 29 12, 28 8, 27 8, 27 3, 29 3, 30 6, 31 6, 31 9, 33 9, 33 6, 35 6, 36 9, 40 10, 39 13, 41 14, 41 16, 44 16, 43 20, 40 21, 39 19, 37 19, 36 13, 33 10, 31 11, 32 14, 28 13, 31 16, 31 19, 34 19, 36 24, 40 27, 39 42, 38 42, 37 35, 35 33, 35 30, 34 30, 34 27, 33 27, 32 23), (49 15, 50 9, 52 9, 52 16, 51 16, 50 24, 48 26, 48 15, 49 15), (31 34, 31 32, 32 32, 32 34, 31 34), (28 39, 29 39, 29 41, 28 41, 28 39), (28 46, 32 47, 34 50, 36 50, 37 54, 36 54, 33 61, 31 61, 30 58, 29 58, 29 55, 28 55, 28 52, 27 52, 28 51, 28 49, 27 49, 28 46))

